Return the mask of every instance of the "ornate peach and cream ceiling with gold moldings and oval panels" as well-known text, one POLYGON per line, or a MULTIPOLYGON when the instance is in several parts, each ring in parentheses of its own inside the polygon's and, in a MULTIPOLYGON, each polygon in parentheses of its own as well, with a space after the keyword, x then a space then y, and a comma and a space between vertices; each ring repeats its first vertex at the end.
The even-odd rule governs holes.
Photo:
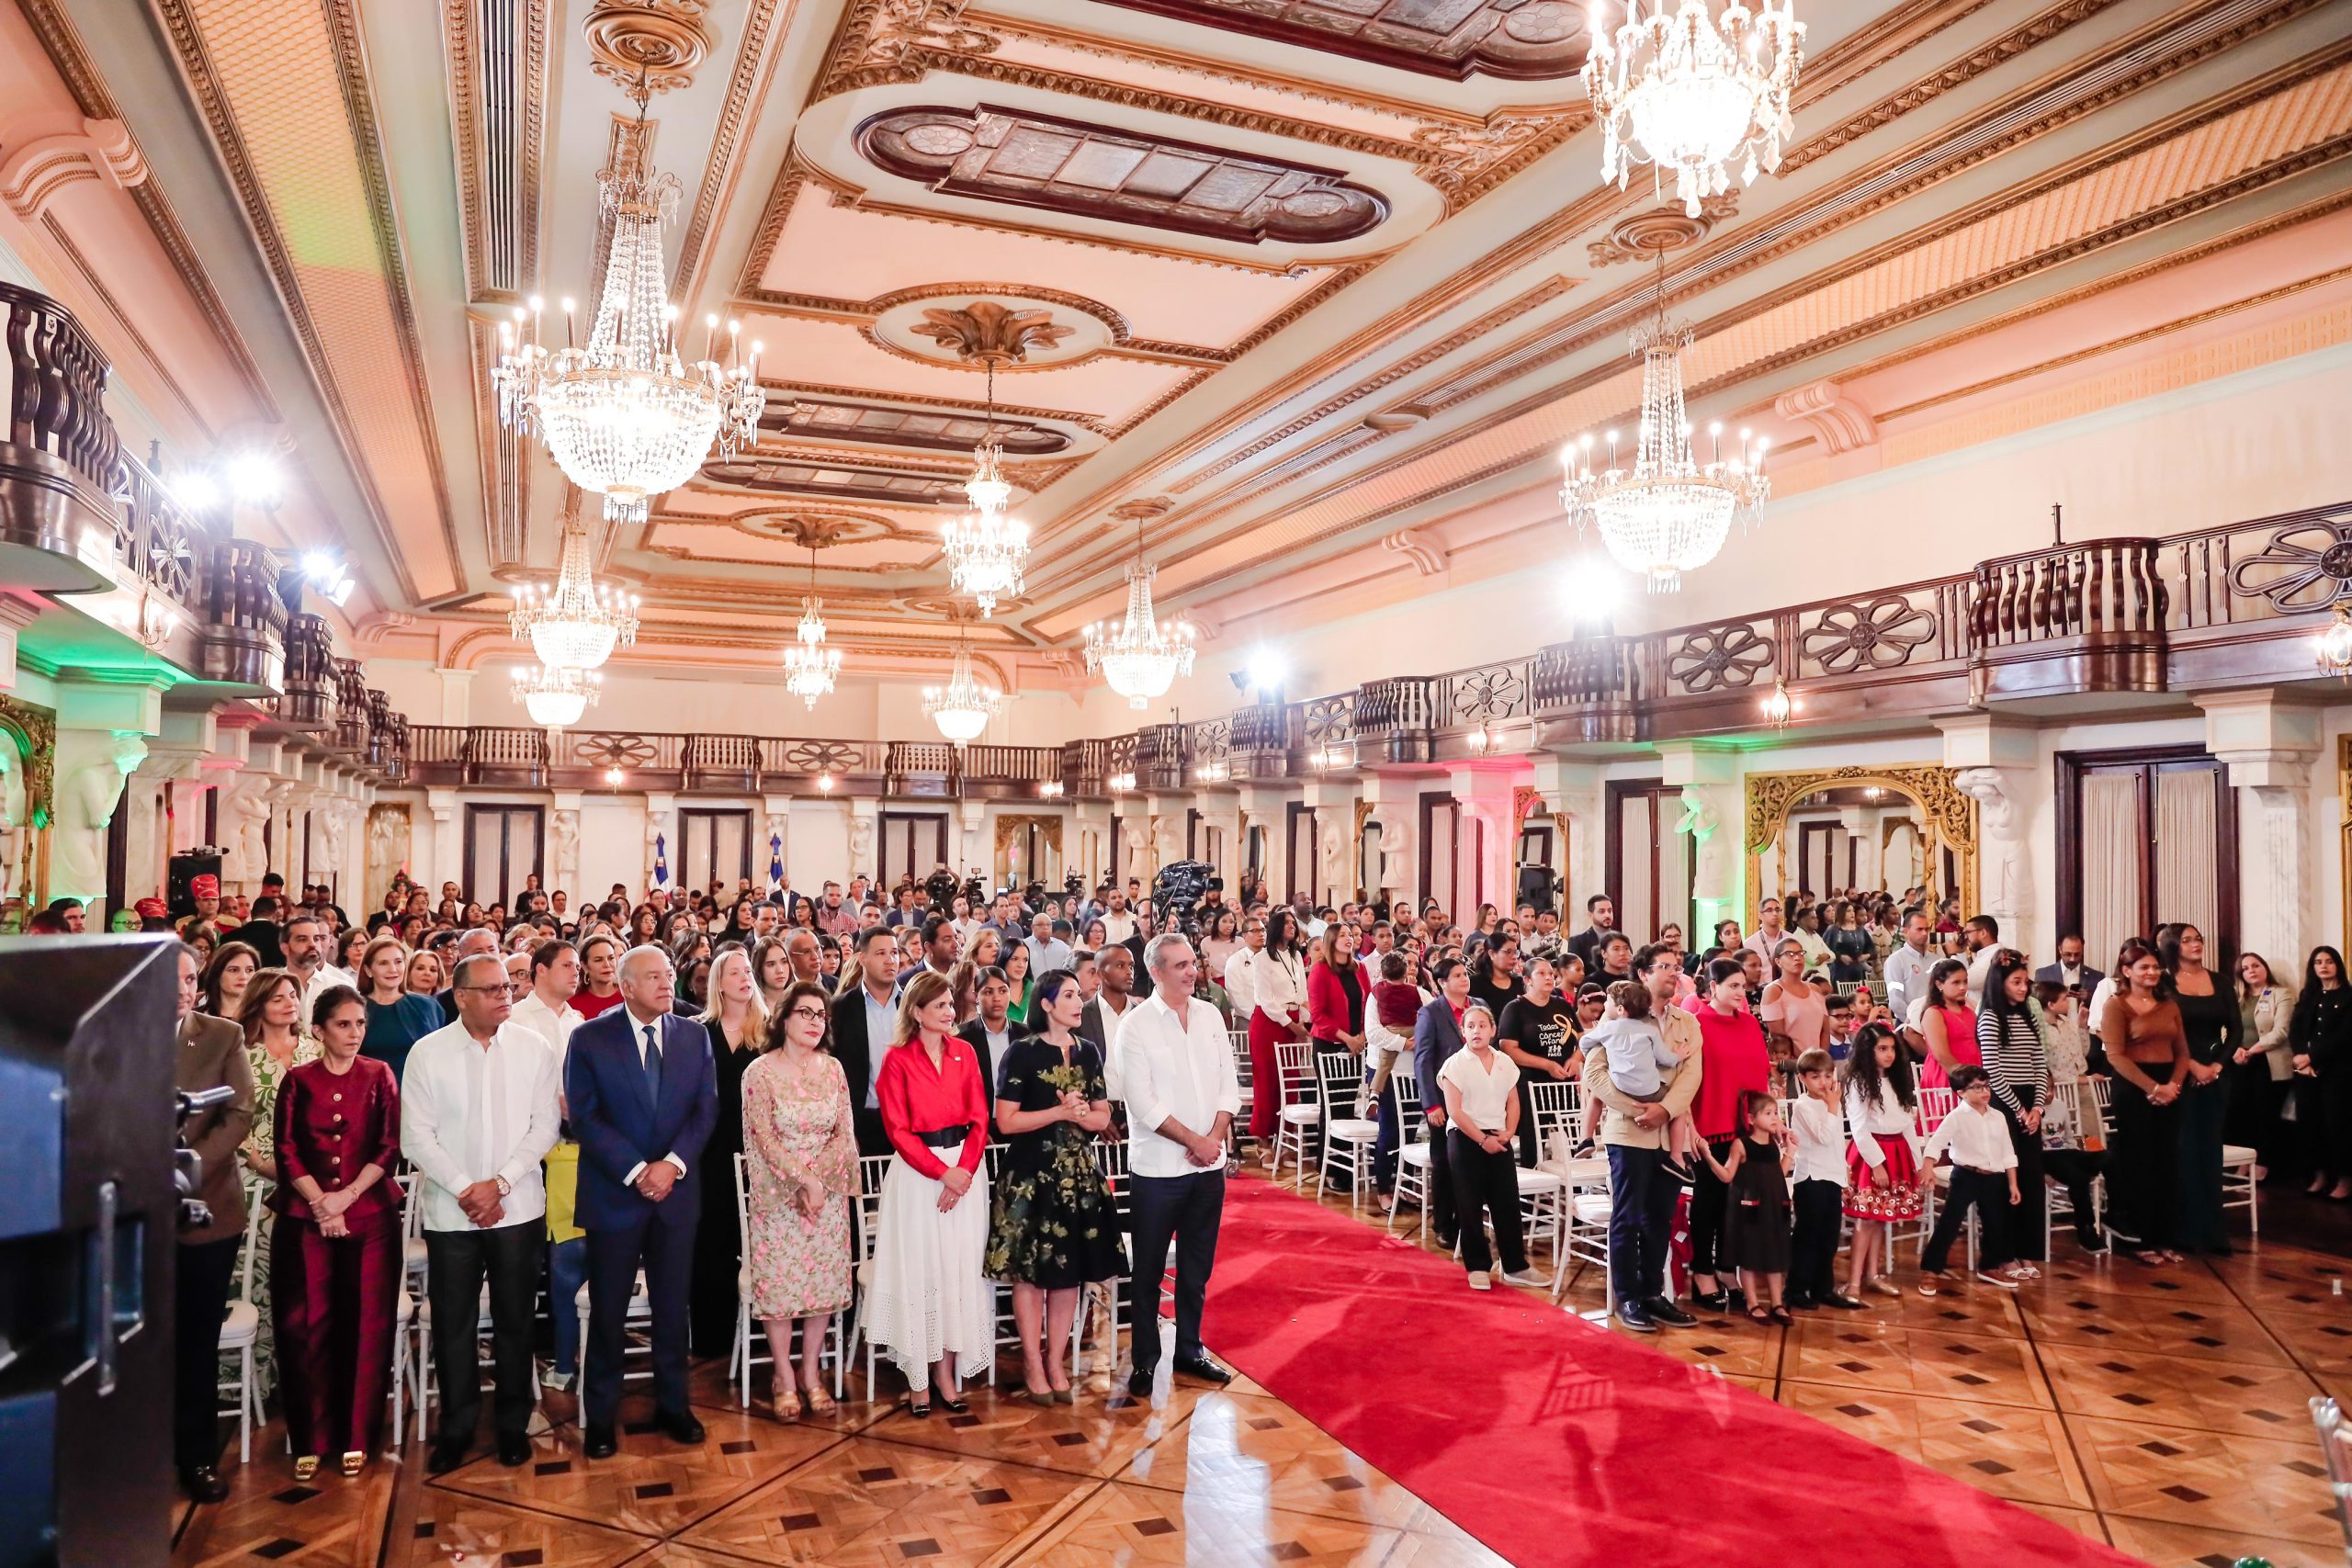
MULTIPOLYGON (((2002 327, 2098 320, 2082 360, 2241 308, 2161 277, 2352 202, 2352 0, 1799 0, 1790 153, 1696 219, 1602 186, 1564 0, 14 5, 207 235, 162 249, 221 336, 299 346, 270 393, 374 609, 419 616, 383 625, 477 656, 574 505, 496 428, 494 322, 590 294, 614 160, 684 181, 687 320, 739 317, 769 390, 757 449, 604 538, 637 654, 771 663, 816 545, 854 656, 943 665, 993 362, 1037 555, 978 642, 1023 679, 1115 607, 1138 515, 1211 635, 1277 578, 1411 581, 1475 508, 1566 550, 1552 451, 1632 409, 1661 254, 1693 404, 1804 463, 2051 371, 2002 327)), ((2312 244, 2263 289, 2343 275, 2312 244)))

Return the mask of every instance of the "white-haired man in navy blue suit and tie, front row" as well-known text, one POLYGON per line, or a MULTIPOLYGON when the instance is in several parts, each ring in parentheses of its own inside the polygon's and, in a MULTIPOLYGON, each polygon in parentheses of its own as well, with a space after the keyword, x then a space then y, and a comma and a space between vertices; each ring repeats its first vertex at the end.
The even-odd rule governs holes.
POLYGON ((616 1450, 628 1298, 644 1265, 654 1309, 654 1425, 701 1443, 687 1406, 687 1288, 701 1218, 703 1145, 717 1121, 710 1034, 670 1013, 677 971, 661 947, 621 959, 621 1006, 572 1032, 564 1103, 581 1145, 574 1218, 588 1232, 583 1453, 616 1450))

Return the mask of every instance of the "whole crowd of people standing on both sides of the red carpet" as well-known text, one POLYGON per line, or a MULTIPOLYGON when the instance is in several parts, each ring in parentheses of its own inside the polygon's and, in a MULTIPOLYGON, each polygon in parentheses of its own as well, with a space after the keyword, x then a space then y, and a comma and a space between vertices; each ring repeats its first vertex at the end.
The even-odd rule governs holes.
MULTIPOLYGON (((1538 1281, 1515 1166, 1606 1157, 1613 1309, 1637 1331, 1693 1321, 1665 1274, 1684 1192, 1686 1300, 1778 1324, 1900 1293, 1891 1244, 1933 1192, 1929 1293, 1969 1215, 1978 1279, 2030 1279, 2046 1178, 2082 1246, 2112 1232, 2150 1267, 2227 1251, 2225 1140, 2352 1199, 2340 954, 2314 950, 2300 987, 2256 954, 2218 976, 2185 924, 2103 976, 2077 936, 2030 969, 1924 889, 1766 898, 1755 931, 1724 922, 1698 952, 1675 924, 1637 945, 1606 898, 1569 933, 1526 905, 1456 924, 1435 900, 1317 907, 1247 879, 1171 929, 1141 882, 983 896, 946 872, 581 905, 532 879, 513 910, 395 879, 365 922, 318 886, 245 905, 200 877, 191 896, 158 922, 183 943, 181 1077, 238 1088, 191 1126, 214 1225, 183 1237, 176 1432, 200 1497, 223 1488, 205 1328, 245 1237, 240 1178, 273 1213, 247 1276, 303 1476, 334 1455, 358 1474, 381 1441, 407 1187, 445 1368, 435 1472, 470 1453, 477 1378, 447 1368, 475 1366, 485 1284, 508 1465, 529 1458, 541 1288, 546 1382, 576 1399, 588 1458, 616 1450, 640 1272, 656 1427, 684 1441, 689 1363, 731 1356, 743 1312, 781 1418, 830 1413, 818 1359, 844 1312, 913 1415, 962 1413, 995 1366, 997 1284, 1018 1394, 1070 1403, 1087 1288, 1171 1248, 1174 1371, 1225 1382, 1200 1338, 1223 1180, 1244 1131, 1272 1157, 1284 1046, 1359 1058, 1383 1211, 1402 1150, 1432 1140, 1428 1222, 1475 1288, 1538 1281), (1578 1126, 1538 1126, 1541 1079, 1581 1088, 1578 1126), (1425 1126, 1399 1119, 1406 1086, 1425 1126), (1922 1117, 1929 1091, 1950 1114, 1922 1117), (1115 1199, 1096 1143, 1122 1128, 1115 1199), (861 1157, 882 1168, 866 1206, 861 1157)), ((1134 1394, 1157 1361, 1136 1335, 1134 1394)))

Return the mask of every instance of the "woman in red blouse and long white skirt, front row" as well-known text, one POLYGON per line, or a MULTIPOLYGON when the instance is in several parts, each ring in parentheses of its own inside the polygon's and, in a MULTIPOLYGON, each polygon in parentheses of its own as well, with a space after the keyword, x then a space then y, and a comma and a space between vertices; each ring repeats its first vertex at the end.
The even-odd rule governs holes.
POLYGON ((898 1039, 875 1084, 896 1159, 882 1178, 868 1333, 906 1375, 908 1413, 931 1413, 931 1385, 967 1410, 962 1373, 997 1354, 988 1255, 988 1086, 955 1034, 955 992, 924 971, 898 1001, 898 1039))

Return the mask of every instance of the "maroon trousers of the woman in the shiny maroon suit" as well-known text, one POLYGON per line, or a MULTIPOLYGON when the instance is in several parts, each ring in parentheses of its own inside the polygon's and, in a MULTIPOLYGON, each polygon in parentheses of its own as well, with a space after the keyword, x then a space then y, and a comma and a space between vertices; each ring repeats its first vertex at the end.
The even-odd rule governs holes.
MULTIPOLYGON (((270 1314, 278 1319, 278 1403, 294 1455, 374 1453, 393 1394, 400 1316, 400 1211, 322 1237, 278 1215, 270 1314)), ((447 1380, 447 1378, 445 1378, 447 1380)))

